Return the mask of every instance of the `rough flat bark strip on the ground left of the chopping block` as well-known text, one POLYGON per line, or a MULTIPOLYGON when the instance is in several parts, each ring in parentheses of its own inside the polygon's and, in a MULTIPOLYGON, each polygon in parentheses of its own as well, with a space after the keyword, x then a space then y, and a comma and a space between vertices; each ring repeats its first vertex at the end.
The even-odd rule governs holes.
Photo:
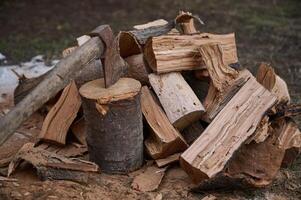
POLYGON ((33 143, 25 144, 9 164, 10 176, 22 161, 26 161, 37 169, 40 179, 75 180, 87 182, 86 172, 98 172, 95 163, 76 158, 66 158, 55 153, 34 147, 33 143))

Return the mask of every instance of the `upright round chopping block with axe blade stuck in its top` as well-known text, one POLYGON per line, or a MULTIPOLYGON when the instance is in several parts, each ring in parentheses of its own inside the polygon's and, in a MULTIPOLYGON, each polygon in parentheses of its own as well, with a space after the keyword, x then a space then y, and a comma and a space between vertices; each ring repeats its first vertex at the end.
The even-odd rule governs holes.
POLYGON ((109 88, 97 79, 80 88, 90 159, 108 173, 127 173, 143 162, 141 84, 121 78, 109 88))

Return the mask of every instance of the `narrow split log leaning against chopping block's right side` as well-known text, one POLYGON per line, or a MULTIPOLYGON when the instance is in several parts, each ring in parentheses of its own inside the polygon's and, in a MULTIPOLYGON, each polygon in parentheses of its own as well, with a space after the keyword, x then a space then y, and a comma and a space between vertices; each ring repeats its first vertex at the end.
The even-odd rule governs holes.
POLYGON ((145 146, 153 159, 165 158, 188 147, 146 86, 141 90, 141 107, 151 130, 150 137, 145 140, 145 146))

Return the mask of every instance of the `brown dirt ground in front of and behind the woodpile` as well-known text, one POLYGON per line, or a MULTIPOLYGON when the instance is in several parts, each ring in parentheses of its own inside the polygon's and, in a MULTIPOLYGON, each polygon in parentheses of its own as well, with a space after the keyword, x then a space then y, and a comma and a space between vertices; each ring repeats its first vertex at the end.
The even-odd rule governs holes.
MULTIPOLYGON (((293 102, 301 103, 301 2, 299 0, 2 0, 0 52, 9 63, 37 54, 60 58, 75 38, 100 24, 115 32, 158 18, 172 19, 184 9, 206 23, 204 32, 235 32, 242 66, 256 71, 269 62, 288 83, 293 102)), ((301 127, 301 120, 296 119, 301 127)), ((142 169, 143 170, 143 169, 142 169)), ((90 174, 89 183, 45 181, 33 170, 15 175, 17 182, 0 182, 0 199, 201 199, 188 176, 171 167, 160 188, 141 193, 130 188, 127 176, 90 174), (28 173, 31 172, 31 173, 28 173)), ((282 169, 265 189, 211 191, 218 199, 301 199, 301 157, 282 169)))

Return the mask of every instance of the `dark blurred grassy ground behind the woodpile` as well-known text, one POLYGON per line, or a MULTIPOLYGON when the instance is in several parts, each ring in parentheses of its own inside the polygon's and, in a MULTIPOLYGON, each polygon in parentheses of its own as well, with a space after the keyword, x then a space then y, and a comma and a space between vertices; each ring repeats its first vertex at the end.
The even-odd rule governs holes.
POLYGON ((301 103, 300 0, 0 0, 0 52, 8 63, 61 51, 101 24, 115 33, 179 10, 198 14, 203 32, 236 33, 241 64, 255 71, 271 63, 301 103))

